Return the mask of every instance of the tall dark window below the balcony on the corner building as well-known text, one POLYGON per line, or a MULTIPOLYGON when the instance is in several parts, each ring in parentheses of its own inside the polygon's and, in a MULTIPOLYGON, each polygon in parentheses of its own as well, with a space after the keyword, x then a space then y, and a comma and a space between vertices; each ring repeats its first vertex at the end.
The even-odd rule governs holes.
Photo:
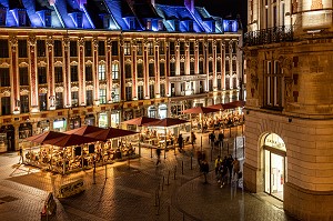
POLYGON ((282 108, 282 77, 279 61, 265 62, 265 106, 282 108))

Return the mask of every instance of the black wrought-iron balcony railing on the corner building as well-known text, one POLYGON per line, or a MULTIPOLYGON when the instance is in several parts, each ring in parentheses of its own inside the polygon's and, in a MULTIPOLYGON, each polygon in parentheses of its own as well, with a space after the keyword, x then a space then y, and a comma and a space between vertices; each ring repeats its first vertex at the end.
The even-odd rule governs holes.
POLYGON ((293 41, 293 27, 273 27, 251 31, 244 36, 244 46, 262 46, 287 41, 293 41))

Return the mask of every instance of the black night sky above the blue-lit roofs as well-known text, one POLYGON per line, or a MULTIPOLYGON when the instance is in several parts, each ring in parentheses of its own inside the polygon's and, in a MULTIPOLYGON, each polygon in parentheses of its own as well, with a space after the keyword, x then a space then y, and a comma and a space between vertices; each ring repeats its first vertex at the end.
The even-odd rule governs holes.
MULTIPOLYGON (((155 3, 184 6, 183 0, 155 0, 155 3)), ((228 18, 241 16, 242 23, 246 23, 246 0, 194 0, 194 6, 204 7, 210 14, 228 18)))

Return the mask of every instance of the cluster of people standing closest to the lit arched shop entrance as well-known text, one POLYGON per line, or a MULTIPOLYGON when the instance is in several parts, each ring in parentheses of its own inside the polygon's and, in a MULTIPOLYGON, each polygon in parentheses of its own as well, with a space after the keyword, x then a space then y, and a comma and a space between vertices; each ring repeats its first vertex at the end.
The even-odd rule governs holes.
POLYGON ((221 188, 228 182, 231 183, 232 180, 238 181, 241 178, 241 167, 238 158, 233 159, 229 154, 222 160, 221 155, 218 155, 215 159, 215 177, 221 188))

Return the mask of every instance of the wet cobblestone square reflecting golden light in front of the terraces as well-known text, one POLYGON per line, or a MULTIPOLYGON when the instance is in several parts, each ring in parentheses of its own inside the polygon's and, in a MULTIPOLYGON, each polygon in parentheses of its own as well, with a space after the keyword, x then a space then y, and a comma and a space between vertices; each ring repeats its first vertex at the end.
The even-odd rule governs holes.
MULTIPOLYGON (((242 180, 222 189, 214 179, 213 160, 218 154, 234 154, 243 160, 240 131, 233 129, 224 148, 211 149, 208 133, 198 134, 195 150, 206 152, 211 172, 203 184, 192 147, 184 152, 162 152, 162 163, 155 167, 155 152, 142 149, 142 158, 117 162, 92 170, 59 175, 17 164, 17 153, 0 154, 0 220, 40 220, 43 201, 49 192, 70 181, 83 179, 85 191, 57 201, 57 214, 51 220, 132 221, 132 220, 293 220, 278 204, 272 204, 243 191, 242 180), (229 150, 228 150, 229 148, 229 150), (105 179, 107 178, 107 179, 105 179)), ((281 203, 280 203, 281 205, 281 203)))

